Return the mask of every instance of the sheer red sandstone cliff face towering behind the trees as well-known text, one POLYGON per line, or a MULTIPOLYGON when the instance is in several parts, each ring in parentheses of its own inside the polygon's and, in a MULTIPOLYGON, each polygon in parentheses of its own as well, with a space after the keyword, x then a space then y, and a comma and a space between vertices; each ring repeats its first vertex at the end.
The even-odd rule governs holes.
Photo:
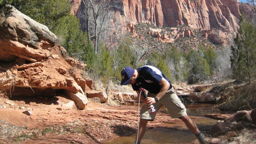
MULTIPOLYGON (((241 13, 248 15, 250 4, 238 0, 121 0, 118 10, 130 24, 144 22, 160 28, 188 26, 199 30, 215 44, 224 44, 239 28, 241 13)), ((72 0, 79 18, 81 0, 72 0), (80 4, 80 5, 79 5, 80 4), (78 6, 79 5, 79 6, 78 6)), ((254 12, 255 13, 255 12, 254 12)), ((80 18, 81 24, 84 24, 80 18)), ((84 30, 84 28, 82 28, 84 30)), ((179 30, 178 30, 179 31, 179 30)), ((179 34, 180 35, 180 34, 179 34)), ((177 37, 177 36, 173 36, 177 37)), ((179 37, 179 36, 178 36, 179 37)))

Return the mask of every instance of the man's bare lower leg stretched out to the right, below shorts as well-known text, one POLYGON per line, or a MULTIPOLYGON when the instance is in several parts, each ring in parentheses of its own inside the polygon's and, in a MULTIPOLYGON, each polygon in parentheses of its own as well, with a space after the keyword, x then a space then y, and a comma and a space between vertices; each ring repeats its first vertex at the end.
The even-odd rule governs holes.
POLYGON ((198 138, 201 144, 206 142, 203 134, 198 130, 196 124, 187 115, 180 117, 180 119, 186 124, 188 129, 191 130, 193 134, 195 134, 196 138, 198 138))

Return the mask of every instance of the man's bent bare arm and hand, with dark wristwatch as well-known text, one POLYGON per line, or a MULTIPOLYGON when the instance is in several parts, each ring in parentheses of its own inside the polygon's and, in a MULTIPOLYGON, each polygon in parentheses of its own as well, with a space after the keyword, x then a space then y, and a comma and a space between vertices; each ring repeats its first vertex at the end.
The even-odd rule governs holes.
MULTIPOLYGON (((159 84, 162 86, 162 88, 160 89, 160 92, 156 94, 156 98, 158 98, 158 100, 160 100, 170 88, 170 83, 165 78, 162 78, 159 84)), ((146 98, 145 101, 149 105, 156 103, 155 99, 150 97, 146 98)))

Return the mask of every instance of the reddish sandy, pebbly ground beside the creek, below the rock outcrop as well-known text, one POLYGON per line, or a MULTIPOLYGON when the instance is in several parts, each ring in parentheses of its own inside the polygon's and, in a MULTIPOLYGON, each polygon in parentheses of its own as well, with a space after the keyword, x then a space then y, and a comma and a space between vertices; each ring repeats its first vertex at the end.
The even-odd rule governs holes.
MULTIPOLYGON (((70 110, 57 109, 70 101, 64 96, 13 100, 0 97, 0 144, 96 144, 130 136, 137 130, 136 106, 109 106, 91 101, 84 110, 75 106, 70 110), (32 114, 22 113, 26 110, 32 114)), ((184 125, 179 119, 170 120, 165 112, 157 115, 148 128, 165 122, 184 125)))

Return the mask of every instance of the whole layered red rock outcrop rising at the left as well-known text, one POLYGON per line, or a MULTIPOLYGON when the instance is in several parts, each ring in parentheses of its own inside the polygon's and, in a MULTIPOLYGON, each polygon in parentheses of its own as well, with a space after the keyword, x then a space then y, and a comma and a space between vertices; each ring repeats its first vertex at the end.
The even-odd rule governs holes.
MULTIPOLYGON (((0 93, 11 98, 91 90, 92 80, 80 73, 86 64, 70 58, 57 40, 46 26, 6 5, 0 24, 0 93)), ((83 109, 86 96, 81 102, 83 109)))

